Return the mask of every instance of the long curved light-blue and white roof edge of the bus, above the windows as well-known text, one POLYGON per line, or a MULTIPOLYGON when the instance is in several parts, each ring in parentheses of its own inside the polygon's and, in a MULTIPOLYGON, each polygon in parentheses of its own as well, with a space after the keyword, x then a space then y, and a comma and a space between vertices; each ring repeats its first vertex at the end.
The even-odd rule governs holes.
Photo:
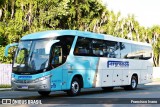
POLYGON ((49 30, 49 31, 43 31, 43 32, 36 32, 36 33, 23 36, 21 40, 53 38, 53 37, 62 36, 62 35, 81 36, 81 37, 88 37, 88 38, 95 38, 95 39, 125 42, 125 43, 131 43, 131 44, 146 45, 151 47, 151 45, 148 43, 136 42, 136 41, 127 40, 119 37, 114 37, 112 35, 98 34, 98 33, 93 33, 88 31, 79 31, 79 30, 49 30))

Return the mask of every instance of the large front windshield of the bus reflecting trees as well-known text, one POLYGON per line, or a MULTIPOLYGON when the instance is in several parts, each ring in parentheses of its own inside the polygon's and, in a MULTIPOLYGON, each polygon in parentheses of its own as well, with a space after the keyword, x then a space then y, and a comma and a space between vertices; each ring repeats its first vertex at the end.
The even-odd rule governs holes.
POLYGON ((15 54, 13 72, 29 73, 47 68, 53 41, 53 39, 21 41, 15 54))

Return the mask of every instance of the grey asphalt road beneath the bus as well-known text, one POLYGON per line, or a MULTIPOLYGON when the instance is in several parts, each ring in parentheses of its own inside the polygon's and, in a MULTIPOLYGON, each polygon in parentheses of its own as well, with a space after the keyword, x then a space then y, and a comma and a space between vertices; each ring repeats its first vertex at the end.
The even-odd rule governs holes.
MULTIPOLYGON (((28 91, 0 91, 0 98, 3 99, 15 99, 15 100, 32 100, 32 101, 40 101, 42 104, 51 104, 47 106, 70 106, 70 104, 74 104, 74 106, 85 107, 86 104, 88 107, 93 106, 101 106, 105 107, 115 107, 115 106, 127 106, 128 104, 132 104, 131 106, 137 107, 148 107, 148 106, 157 106, 160 104, 160 81, 156 81, 153 83, 138 85, 137 90, 133 91, 125 91, 121 87, 115 87, 112 92, 104 92, 101 88, 93 88, 93 89, 83 89, 81 94, 76 97, 69 97, 65 92, 52 92, 47 97, 41 97, 37 92, 28 92, 28 91), (152 101, 148 104, 148 100, 152 101), (138 103, 136 101, 139 101, 138 103), (147 101, 147 103, 145 102, 147 101), (143 105, 142 105, 142 104, 143 105), (79 105, 80 104, 80 105, 79 105), (95 105, 96 104, 96 105, 95 105), (118 104, 118 105, 117 105, 118 104), (140 105, 139 105, 140 104, 140 105), (145 104, 145 106, 144 106, 145 104)), ((23 104, 23 103, 22 103, 23 104)), ((4 106, 4 105, 3 105, 4 106)), ((24 105, 24 107, 34 107, 34 105, 24 105)), ((35 105, 36 106, 36 105, 35 105)), ((41 107, 40 105, 39 107, 41 107)), ((44 106, 44 105, 43 105, 44 106)), ((72 105, 73 106, 73 105, 72 105)), ((130 105, 128 105, 130 106, 130 105)), ((131 107, 130 106, 130 107, 131 107)))

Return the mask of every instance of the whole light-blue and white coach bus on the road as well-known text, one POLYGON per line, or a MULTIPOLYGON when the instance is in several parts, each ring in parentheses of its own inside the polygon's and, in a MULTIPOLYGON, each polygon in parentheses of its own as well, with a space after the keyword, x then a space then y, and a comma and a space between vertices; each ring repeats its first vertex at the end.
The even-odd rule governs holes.
POLYGON ((116 86, 135 90, 152 81, 150 44, 77 30, 54 30, 23 36, 13 61, 12 89, 41 95, 63 90, 116 86))

